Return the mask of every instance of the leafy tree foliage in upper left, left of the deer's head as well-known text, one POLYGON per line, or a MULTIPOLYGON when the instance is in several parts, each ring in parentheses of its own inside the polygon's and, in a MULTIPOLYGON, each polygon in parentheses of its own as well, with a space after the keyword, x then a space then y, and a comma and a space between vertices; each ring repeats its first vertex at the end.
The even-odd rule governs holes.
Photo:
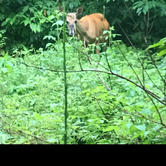
POLYGON ((5 29, 7 45, 13 46, 15 41, 36 48, 45 46, 46 35, 57 37, 56 27, 52 27, 60 14, 55 1, 20 1, 1 2, 1 26, 5 29))

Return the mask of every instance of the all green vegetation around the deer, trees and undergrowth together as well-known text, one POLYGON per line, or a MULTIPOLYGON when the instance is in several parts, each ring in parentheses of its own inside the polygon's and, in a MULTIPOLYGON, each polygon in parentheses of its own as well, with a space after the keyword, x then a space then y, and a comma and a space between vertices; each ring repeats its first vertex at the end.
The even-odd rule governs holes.
POLYGON ((0 0, 0 143, 166 143, 166 1, 64 2, 105 15, 107 51, 65 35, 62 0, 0 0))

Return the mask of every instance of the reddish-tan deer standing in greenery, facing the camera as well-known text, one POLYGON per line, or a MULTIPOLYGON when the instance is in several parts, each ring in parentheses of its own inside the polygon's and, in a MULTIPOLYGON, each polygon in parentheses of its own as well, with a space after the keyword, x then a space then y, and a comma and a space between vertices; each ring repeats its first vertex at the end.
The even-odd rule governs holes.
MULTIPOLYGON (((63 9, 59 7, 59 10, 63 9)), ((82 13, 82 7, 77 9, 76 13, 68 13, 66 17, 66 23, 69 30, 69 35, 74 36, 76 33, 80 40, 83 41, 84 46, 88 44, 96 43, 99 45, 101 42, 107 42, 105 37, 108 34, 103 35, 104 30, 109 30, 109 23, 100 13, 94 13, 86 15, 80 20, 77 19, 77 15, 82 13), (98 40, 96 40, 98 38, 98 40)), ((96 53, 99 54, 100 50, 96 47, 96 53)))

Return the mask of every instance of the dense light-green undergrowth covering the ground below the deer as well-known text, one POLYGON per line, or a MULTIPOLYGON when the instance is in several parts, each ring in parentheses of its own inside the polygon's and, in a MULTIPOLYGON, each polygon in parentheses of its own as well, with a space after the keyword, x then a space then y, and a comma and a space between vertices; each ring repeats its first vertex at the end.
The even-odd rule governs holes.
MULTIPOLYGON (((166 143, 164 59, 156 69, 147 51, 122 43, 100 56, 77 45, 66 43, 67 143, 166 143)), ((62 42, 12 56, 0 58, 0 143, 63 144, 62 42)))

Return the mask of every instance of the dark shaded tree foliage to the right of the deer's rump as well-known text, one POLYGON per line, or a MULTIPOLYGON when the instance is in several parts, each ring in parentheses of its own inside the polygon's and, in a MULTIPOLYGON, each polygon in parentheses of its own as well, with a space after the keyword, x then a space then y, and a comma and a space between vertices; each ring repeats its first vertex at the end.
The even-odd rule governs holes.
POLYGON ((164 0, 106 2, 110 6, 106 14, 113 16, 108 17, 108 20, 115 26, 117 33, 123 34, 121 39, 124 42, 130 44, 132 42, 137 47, 145 48, 165 37, 163 19, 166 16, 166 5, 164 0))

